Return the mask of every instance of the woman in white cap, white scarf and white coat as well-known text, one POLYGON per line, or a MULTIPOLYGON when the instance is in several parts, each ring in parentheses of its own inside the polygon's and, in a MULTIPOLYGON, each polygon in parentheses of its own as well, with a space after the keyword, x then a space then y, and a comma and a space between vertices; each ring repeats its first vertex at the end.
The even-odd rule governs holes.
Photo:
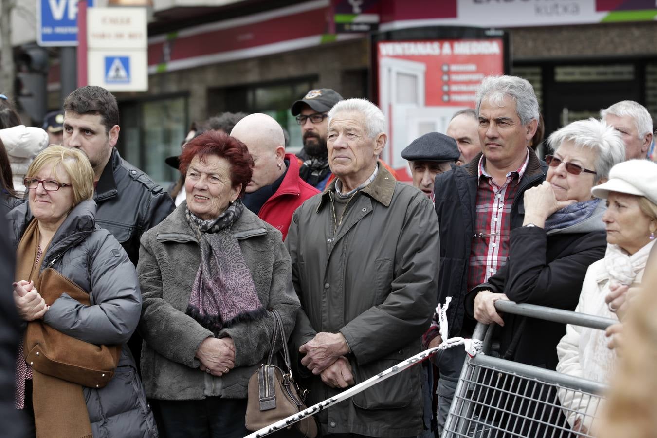
MULTIPOLYGON (((607 246, 604 258, 586 273, 576 311, 622 321, 618 301, 608 297, 639 286, 643 279, 657 233, 657 164, 648 160, 618 164, 611 170, 609 181, 593 188, 593 194, 606 199, 608 206, 602 217, 607 246)), ((559 372, 598 382, 606 382, 616 359, 604 332, 570 324, 557 353, 559 372)), ((560 391, 559 399, 575 429, 591 429, 597 406, 572 391, 560 391)))

